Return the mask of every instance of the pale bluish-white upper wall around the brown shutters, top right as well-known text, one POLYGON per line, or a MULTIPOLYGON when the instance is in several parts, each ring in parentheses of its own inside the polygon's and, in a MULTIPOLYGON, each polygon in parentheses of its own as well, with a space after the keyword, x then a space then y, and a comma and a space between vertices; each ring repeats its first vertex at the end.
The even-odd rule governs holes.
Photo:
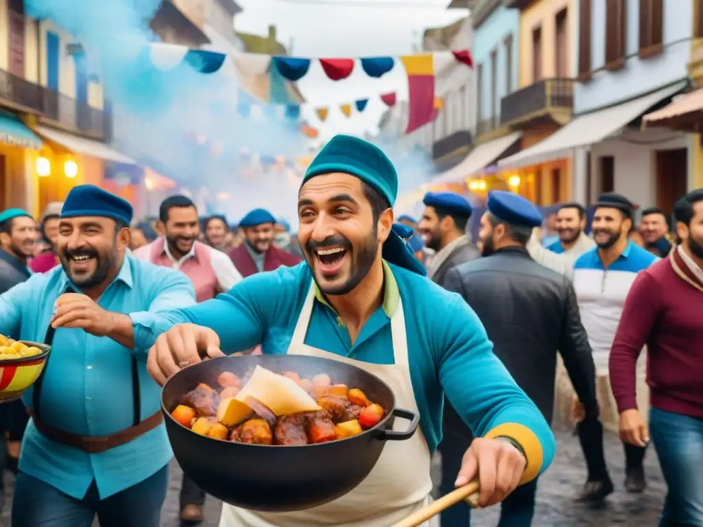
MULTIPOLYGON (((576 0, 578 3, 579 0, 576 0)), ((591 0, 591 70, 588 82, 574 84, 574 114, 589 112, 629 100, 660 86, 688 77, 690 60, 693 2, 664 0, 664 51, 657 56, 640 59, 639 0, 628 0, 626 65, 608 72, 605 64, 605 9, 607 0, 591 0)), ((576 4, 578 6, 578 4, 576 4)), ((574 9, 576 35, 579 28, 578 9, 574 9)), ((578 38, 576 38, 578 42, 578 38)), ((573 46, 572 60, 577 62, 578 46, 573 46)))

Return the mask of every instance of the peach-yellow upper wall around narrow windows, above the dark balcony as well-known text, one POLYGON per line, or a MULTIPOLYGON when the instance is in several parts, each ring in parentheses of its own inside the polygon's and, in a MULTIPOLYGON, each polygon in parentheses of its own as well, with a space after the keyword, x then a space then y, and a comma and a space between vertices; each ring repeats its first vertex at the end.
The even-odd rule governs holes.
MULTIPOLYGON (((530 4, 520 14, 520 88, 534 83, 532 78, 532 32, 541 28, 542 78, 557 77, 556 49, 557 25, 556 16, 567 9, 567 41, 569 49, 574 48, 574 0, 539 0, 530 4)), ((570 56, 570 54, 569 54, 570 56)), ((572 64, 569 63, 569 71, 572 64)))

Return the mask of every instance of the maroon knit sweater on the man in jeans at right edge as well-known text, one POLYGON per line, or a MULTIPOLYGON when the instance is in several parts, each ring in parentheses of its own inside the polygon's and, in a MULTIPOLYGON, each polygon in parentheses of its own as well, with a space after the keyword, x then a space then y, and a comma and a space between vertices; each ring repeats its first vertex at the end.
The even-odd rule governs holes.
POLYGON ((703 417, 703 292, 677 275, 669 258, 633 282, 610 351, 610 384, 620 412, 637 408, 636 363, 647 344, 652 407, 703 417))

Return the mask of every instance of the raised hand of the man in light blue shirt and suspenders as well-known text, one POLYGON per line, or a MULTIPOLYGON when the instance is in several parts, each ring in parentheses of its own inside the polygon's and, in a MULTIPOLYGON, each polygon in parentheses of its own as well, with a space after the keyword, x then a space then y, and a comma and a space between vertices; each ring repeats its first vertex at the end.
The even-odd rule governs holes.
POLYGON ((85 294, 65 293, 56 300, 51 327, 80 328, 96 337, 105 337, 115 325, 114 315, 85 294))

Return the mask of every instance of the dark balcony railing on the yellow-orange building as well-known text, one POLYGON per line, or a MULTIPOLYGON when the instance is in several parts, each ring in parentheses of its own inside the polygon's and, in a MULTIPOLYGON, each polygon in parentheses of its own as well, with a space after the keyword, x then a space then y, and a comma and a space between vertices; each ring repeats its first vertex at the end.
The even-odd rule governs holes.
POLYGON ((520 124, 552 112, 571 112, 573 79, 544 79, 501 99, 501 124, 520 124))

